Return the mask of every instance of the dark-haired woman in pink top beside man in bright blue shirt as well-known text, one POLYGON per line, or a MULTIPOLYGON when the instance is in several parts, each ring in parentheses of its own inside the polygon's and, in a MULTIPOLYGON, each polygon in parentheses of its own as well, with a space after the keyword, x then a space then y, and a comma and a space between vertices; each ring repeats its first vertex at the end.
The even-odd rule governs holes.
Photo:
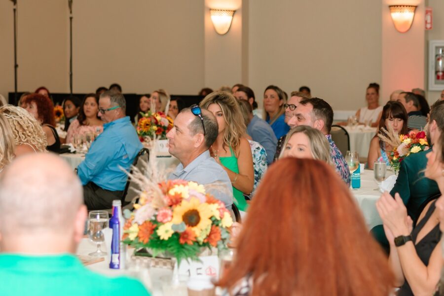
POLYGON ((77 119, 71 123, 66 136, 66 143, 73 143, 74 135, 102 133, 103 121, 98 117, 99 98, 96 94, 87 94, 83 99, 77 119))

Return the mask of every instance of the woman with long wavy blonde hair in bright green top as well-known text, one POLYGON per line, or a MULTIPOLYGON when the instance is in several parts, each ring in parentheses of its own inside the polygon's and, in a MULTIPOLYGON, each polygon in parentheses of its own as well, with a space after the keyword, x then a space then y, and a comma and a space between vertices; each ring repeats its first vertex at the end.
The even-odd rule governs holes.
POLYGON ((244 194, 253 190, 255 174, 250 144, 243 138, 247 128, 239 105, 231 94, 217 91, 206 96, 200 107, 212 112, 218 121, 219 134, 210 153, 230 178, 234 204, 246 211, 244 194))

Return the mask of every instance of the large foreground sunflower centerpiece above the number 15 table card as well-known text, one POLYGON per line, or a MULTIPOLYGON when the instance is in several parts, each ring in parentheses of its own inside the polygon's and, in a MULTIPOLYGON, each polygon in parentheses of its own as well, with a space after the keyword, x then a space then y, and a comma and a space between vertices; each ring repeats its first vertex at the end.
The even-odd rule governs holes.
POLYGON ((124 213, 125 244, 148 248, 154 257, 171 254, 179 264, 182 259, 198 260, 202 248, 227 248, 233 220, 224 204, 206 193, 203 185, 183 180, 154 185, 141 173, 132 178, 148 186, 140 191, 135 210, 124 213))

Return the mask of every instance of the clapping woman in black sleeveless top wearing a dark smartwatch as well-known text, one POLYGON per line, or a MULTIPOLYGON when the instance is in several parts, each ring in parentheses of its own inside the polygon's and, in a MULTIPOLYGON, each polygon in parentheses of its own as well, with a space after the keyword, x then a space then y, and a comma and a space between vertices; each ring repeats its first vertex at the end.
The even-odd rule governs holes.
MULTIPOLYGON (((427 153, 425 177, 435 180, 444 192, 444 133, 437 142, 427 153)), ((443 267, 440 220, 444 215, 440 214, 444 197, 427 202, 414 228, 398 193, 394 199, 383 193, 376 208, 390 243, 390 263, 401 287, 398 295, 433 295, 443 267)))

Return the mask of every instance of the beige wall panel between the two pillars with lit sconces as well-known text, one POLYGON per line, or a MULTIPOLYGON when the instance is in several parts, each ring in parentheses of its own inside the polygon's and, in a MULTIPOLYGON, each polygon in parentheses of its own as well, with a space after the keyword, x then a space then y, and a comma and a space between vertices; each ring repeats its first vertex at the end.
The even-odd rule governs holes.
POLYGON ((308 85, 333 109, 364 106, 368 84, 381 81, 380 2, 249 3, 249 84, 260 101, 268 84, 308 85))

